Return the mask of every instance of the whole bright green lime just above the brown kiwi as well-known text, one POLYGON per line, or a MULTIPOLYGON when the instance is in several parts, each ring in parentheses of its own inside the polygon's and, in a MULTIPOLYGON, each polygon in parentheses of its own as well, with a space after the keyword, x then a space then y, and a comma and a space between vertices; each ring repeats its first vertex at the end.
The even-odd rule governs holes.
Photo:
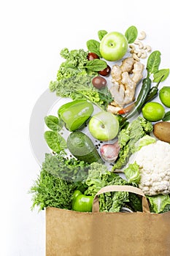
POLYGON ((142 114, 148 121, 160 121, 165 115, 165 109, 158 102, 148 102, 142 108, 142 114))

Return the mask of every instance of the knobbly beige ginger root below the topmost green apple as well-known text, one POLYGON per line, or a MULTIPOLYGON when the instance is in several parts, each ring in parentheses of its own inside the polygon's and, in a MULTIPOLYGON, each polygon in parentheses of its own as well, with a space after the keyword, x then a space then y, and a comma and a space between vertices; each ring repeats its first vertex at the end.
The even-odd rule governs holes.
POLYGON ((110 89, 114 101, 107 107, 107 111, 117 113, 120 109, 134 101, 136 85, 142 79, 144 64, 129 57, 120 66, 112 67, 112 83, 110 89))

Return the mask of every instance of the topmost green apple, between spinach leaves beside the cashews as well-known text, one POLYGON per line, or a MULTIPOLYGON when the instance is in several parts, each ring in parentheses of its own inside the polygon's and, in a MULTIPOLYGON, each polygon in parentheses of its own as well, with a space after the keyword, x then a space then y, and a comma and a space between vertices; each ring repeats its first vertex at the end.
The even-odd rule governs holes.
POLYGON ((128 40, 120 32, 107 33, 100 43, 101 56, 107 61, 122 59, 128 50, 128 40))

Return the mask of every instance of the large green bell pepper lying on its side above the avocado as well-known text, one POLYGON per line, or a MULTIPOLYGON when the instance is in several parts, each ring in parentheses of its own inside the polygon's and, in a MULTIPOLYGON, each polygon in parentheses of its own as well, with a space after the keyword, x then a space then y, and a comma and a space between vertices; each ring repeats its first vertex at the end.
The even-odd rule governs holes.
POLYGON ((79 129, 92 113, 93 105, 85 99, 76 99, 58 109, 59 118, 64 121, 66 129, 71 132, 79 129))

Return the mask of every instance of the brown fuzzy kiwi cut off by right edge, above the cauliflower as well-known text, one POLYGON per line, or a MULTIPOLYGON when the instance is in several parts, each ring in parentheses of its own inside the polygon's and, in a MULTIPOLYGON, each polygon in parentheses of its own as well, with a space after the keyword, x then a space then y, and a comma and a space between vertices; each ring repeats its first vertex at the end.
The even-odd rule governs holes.
POLYGON ((170 122, 160 121, 153 125, 153 134, 159 140, 170 143, 170 122))

